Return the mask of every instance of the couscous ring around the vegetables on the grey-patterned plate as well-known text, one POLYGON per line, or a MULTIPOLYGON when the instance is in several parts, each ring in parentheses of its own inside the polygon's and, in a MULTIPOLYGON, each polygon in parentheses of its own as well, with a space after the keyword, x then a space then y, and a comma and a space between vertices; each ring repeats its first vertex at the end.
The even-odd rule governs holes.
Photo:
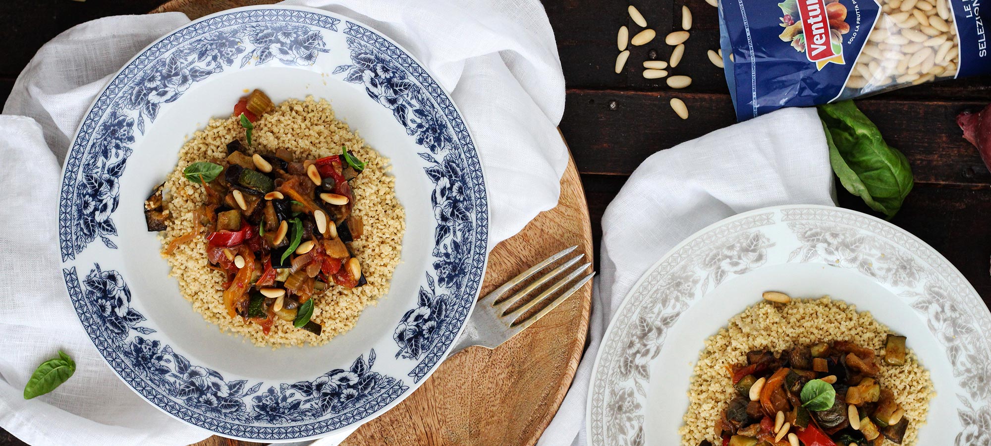
MULTIPOLYGON (((889 333, 892 331, 869 312, 859 312, 855 306, 828 296, 792 299, 789 303, 761 301, 747 308, 706 340, 689 387, 689 408, 679 429, 681 444, 699 446, 706 440, 721 444, 721 414, 737 391, 731 371, 747 363, 747 352, 783 352, 797 346, 848 341, 873 349, 880 357, 884 356, 889 333)), ((930 374, 911 350, 903 366, 889 366, 883 361, 879 365, 877 382, 894 393, 910 421, 902 444, 915 445, 919 427, 926 422, 929 401, 936 394, 930 374)), ((884 444, 894 446, 887 439, 884 444)))

